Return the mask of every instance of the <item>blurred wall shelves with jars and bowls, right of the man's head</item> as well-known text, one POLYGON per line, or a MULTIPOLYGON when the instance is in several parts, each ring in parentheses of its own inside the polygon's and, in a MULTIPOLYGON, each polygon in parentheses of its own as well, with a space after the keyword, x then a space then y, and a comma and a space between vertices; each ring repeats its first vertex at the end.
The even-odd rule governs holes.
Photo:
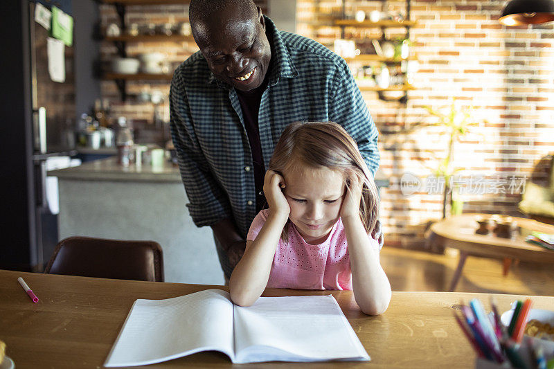
POLYGON ((343 0, 341 9, 320 7, 319 25, 309 21, 307 26, 322 28, 316 30, 316 39, 346 60, 361 91, 406 103, 408 91, 415 89, 411 82, 418 69, 410 39, 410 28, 417 22, 410 19, 410 0, 402 8, 398 4, 343 0))

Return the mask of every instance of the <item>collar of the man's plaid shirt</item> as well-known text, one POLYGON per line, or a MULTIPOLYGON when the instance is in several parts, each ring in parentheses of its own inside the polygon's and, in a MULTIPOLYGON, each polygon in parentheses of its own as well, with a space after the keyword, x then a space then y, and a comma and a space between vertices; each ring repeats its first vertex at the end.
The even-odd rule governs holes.
MULTIPOLYGON (((294 66, 292 57, 274 22, 265 15, 263 17, 265 19, 267 39, 269 39, 269 45, 271 46, 271 71, 269 71, 268 84, 273 86, 281 77, 294 78, 298 77, 300 73, 298 73, 296 66, 294 66)), ((232 88, 229 84, 215 78, 215 75, 211 71, 208 77, 208 83, 215 83, 217 86, 226 89, 232 88)))

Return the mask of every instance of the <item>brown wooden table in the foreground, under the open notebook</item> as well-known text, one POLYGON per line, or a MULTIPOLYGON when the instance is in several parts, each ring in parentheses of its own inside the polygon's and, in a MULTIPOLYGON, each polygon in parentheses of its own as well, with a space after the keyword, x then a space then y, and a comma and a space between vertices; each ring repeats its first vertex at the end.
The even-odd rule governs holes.
MULTIPOLYGON (((18 369, 102 368, 107 354, 137 298, 170 298, 209 285, 138 282, 39 273, 0 271, 0 340, 18 369), (17 283, 22 276, 39 303, 32 303, 17 283)), ((262 363, 256 368, 469 368, 476 355, 452 317, 461 300, 488 294, 449 292, 393 292, 381 316, 366 316, 350 291, 267 289, 265 296, 332 294, 339 301, 371 361, 332 363, 262 363)), ((501 312, 523 296, 495 295, 501 312)), ((554 297, 533 296, 534 307, 554 306, 554 297)), ((218 352, 202 352, 148 368, 229 368, 218 352)), ((244 365, 244 368, 254 366, 244 365)))

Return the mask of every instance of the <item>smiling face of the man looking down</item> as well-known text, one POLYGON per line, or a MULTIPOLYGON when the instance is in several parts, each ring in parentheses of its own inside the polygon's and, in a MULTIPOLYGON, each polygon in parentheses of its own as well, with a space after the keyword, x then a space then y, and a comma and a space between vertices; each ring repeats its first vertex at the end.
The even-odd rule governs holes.
POLYGON ((210 18, 195 22, 193 34, 215 77, 240 91, 260 87, 271 60, 260 8, 255 16, 228 6, 210 18))

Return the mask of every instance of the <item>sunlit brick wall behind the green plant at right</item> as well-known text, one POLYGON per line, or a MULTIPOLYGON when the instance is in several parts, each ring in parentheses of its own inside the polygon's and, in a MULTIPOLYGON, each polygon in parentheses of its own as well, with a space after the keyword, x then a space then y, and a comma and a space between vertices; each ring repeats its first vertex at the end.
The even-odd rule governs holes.
MULTIPOLYGON (((328 45, 340 30, 314 25, 329 24, 328 14, 341 11, 337 3, 298 0, 298 33, 328 45)), ((381 1, 352 3, 352 10, 382 6, 381 1)), ((474 107, 479 123, 456 143, 454 165, 463 169, 458 174, 466 183, 470 176, 482 177, 488 187, 462 196, 465 213, 517 215, 521 179, 546 182, 541 159, 554 152, 554 23, 501 26, 497 19, 504 3, 412 0, 411 19, 418 21, 411 29, 419 62, 416 89, 409 91, 406 105, 363 93, 380 132, 381 168, 391 178, 381 192, 388 245, 424 247, 425 225, 442 217, 442 195, 429 195, 425 178, 445 158, 448 141, 444 129, 429 126, 436 118, 425 106, 440 109, 455 98, 458 107, 474 107), (405 172, 424 183, 410 196, 400 190, 405 172), (503 191, 508 193, 494 193, 503 191)), ((386 1, 386 6, 403 10, 404 1, 386 1)), ((367 30, 364 36, 379 37, 379 32, 367 30)))

